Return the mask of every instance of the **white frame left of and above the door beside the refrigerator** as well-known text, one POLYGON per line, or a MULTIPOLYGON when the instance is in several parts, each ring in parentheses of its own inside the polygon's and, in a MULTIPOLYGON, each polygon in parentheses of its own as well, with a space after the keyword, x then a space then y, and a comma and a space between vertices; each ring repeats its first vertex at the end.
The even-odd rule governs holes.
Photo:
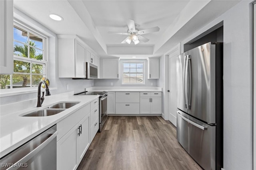
MULTIPOLYGON (((164 88, 163 88, 163 104, 164 104, 164 115, 162 117, 165 120, 169 120, 169 55, 174 53, 180 54, 180 43, 175 45, 172 49, 164 54, 164 88)), ((178 56, 177 55, 177 56, 178 56)))

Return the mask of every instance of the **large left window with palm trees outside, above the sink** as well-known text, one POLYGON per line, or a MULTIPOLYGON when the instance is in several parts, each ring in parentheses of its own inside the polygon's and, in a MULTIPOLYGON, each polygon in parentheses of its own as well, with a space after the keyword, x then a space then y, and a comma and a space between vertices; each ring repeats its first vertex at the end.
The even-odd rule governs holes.
POLYGON ((1 89, 38 86, 46 76, 46 37, 14 24, 14 74, 0 74, 1 89))

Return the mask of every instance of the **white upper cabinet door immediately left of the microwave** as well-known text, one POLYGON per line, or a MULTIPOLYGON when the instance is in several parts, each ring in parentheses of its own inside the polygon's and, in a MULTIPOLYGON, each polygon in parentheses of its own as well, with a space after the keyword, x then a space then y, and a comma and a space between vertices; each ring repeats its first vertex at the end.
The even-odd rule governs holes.
POLYGON ((76 40, 76 77, 85 78, 85 48, 76 40))

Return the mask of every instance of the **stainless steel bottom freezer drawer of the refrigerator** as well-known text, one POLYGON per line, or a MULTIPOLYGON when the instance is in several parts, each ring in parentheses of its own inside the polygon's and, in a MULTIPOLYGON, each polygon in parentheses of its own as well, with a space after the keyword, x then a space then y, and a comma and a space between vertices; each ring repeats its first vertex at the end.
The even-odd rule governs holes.
POLYGON ((216 127, 177 111, 177 139, 180 145, 204 168, 216 169, 216 127))

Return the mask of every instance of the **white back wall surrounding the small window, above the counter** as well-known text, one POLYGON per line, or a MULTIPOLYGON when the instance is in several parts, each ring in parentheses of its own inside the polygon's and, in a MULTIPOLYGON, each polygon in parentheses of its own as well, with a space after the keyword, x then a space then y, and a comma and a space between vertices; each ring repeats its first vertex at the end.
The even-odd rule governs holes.
MULTIPOLYGON (((110 83, 113 83, 113 86, 134 86, 132 84, 122 84, 122 61, 144 61, 145 64, 145 84, 136 84, 135 86, 151 86, 151 83, 153 83, 152 86, 157 86, 157 80, 158 79, 147 79, 148 77, 148 61, 147 60, 126 60, 126 59, 121 59, 119 61, 119 79, 95 79, 94 80, 94 86, 110 86, 110 83)), ((161 64, 160 64, 161 66, 161 64)), ((161 75, 161 74, 160 74, 161 75)))

